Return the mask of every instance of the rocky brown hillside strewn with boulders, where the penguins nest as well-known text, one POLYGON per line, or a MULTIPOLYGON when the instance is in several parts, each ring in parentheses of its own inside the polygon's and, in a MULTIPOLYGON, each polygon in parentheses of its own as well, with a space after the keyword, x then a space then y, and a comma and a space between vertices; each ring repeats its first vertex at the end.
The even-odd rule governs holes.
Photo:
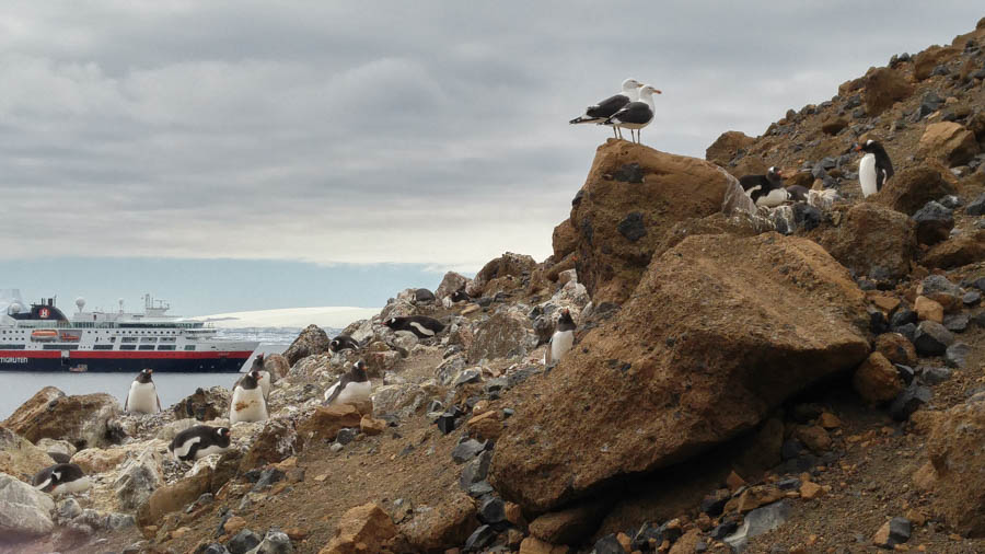
POLYGON ((707 160, 610 139, 548 259, 405 290, 359 353, 304 330, 270 418, 194 466, 167 441, 228 425, 227 390, 148 416, 39 391, 0 428, 0 550, 985 551, 983 79, 985 20, 707 160), (897 172, 862 200, 870 137, 897 172), (810 203, 753 206, 735 176, 769 165, 810 203), (412 314, 445 328, 383 325, 412 314), (357 359, 372 402, 322 406, 357 359), (60 457, 92 490, 24 484, 60 457))

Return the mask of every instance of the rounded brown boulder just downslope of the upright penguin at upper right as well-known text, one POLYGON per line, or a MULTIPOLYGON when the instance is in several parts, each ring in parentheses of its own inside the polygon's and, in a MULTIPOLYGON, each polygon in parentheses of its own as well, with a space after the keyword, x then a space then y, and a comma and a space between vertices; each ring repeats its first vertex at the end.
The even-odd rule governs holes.
POLYGON ((917 251, 913 221, 906 215, 872 203, 843 213, 841 224, 814 234, 835 259, 857 276, 895 280, 909 274, 917 251))

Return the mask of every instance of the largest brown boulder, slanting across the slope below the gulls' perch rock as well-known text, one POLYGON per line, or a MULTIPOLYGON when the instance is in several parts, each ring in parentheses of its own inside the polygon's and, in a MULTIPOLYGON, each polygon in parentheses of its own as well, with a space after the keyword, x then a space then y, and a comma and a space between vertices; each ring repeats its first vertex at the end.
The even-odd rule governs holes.
POLYGON ((518 388, 538 396, 517 406, 490 478, 546 510, 686 460, 857 366, 867 326, 861 290, 818 244, 690 236, 650 264, 617 316, 518 388))

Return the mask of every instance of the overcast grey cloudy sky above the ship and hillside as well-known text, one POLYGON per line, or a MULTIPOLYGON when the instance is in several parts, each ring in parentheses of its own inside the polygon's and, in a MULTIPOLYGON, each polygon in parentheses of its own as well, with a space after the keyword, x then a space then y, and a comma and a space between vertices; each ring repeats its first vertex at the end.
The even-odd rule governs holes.
POLYGON ((0 287, 185 313, 379 305, 542 259, 626 77, 702 157, 978 2, 7 1, 0 287), (383 264, 383 265, 380 265, 383 264), (369 277, 368 277, 369 276, 369 277))

